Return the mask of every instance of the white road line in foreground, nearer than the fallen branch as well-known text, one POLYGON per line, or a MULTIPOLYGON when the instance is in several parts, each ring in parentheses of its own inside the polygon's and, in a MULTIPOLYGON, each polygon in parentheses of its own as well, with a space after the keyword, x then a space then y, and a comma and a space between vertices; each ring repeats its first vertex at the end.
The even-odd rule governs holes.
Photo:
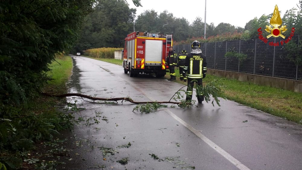
POLYGON ((232 164, 234 164, 237 168, 242 169, 242 170, 249 170, 248 167, 243 165, 240 161, 238 161, 236 158, 231 156, 228 152, 224 151, 222 148, 220 148, 218 145, 216 145, 214 142, 209 140, 206 136, 201 134, 198 130, 194 129, 191 125, 186 123, 184 120, 176 116, 174 113, 169 111, 167 108, 163 109, 165 112, 167 112, 170 116, 172 116, 175 120, 177 120, 179 123, 184 125, 188 130, 193 132, 196 136, 198 136, 201 140, 203 140, 205 143, 207 143, 211 148, 216 150, 220 155, 222 155, 224 158, 226 158, 228 161, 230 161, 232 164))

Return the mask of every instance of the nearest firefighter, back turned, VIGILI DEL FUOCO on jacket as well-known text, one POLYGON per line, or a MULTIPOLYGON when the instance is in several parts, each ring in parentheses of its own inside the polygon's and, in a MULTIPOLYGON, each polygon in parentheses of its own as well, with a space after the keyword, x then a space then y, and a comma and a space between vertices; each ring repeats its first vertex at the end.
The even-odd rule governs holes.
POLYGON ((185 59, 185 66, 183 70, 183 75, 187 73, 188 78, 188 88, 187 88, 187 98, 186 101, 192 101, 193 86, 194 82, 196 86, 196 96, 198 103, 204 101, 204 95, 202 91, 198 90, 202 88, 202 79, 206 77, 207 73, 207 61, 206 56, 200 50, 200 43, 194 41, 191 45, 191 53, 185 59))

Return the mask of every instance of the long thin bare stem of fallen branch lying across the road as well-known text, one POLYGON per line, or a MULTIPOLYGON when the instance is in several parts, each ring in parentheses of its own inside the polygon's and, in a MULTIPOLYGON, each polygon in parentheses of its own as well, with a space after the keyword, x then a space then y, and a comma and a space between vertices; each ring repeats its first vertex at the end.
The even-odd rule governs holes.
POLYGON ((129 101, 130 103, 134 103, 134 104, 151 104, 151 103, 158 103, 158 104, 162 104, 162 103, 171 103, 171 104, 180 104, 181 102, 173 102, 173 101, 133 101, 131 98, 96 98, 96 97, 92 97, 92 96, 88 96, 88 95, 83 95, 83 94, 79 94, 79 93, 66 93, 66 94, 62 94, 62 95, 52 95, 52 94, 47 94, 47 93, 41 93, 44 96, 50 96, 50 97, 57 97, 57 98, 63 98, 63 97, 71 97, 71 96, 78 96, 78 97, 82 97, 82 98, 88 98, 90 100, 102 100, 102 101, 119 101, 119 100, 126 100, 129 101))

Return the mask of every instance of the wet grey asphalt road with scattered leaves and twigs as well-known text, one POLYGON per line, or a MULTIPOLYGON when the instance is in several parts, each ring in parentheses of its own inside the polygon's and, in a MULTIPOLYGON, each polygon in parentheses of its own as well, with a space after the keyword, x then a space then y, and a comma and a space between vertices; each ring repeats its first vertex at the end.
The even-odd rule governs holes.
MULTIPOLYGON (((82 56, 72 59, 71 93, 169 101, 183 86, 149 75, 129 77, 122 66, 82 56)), ((203 103, 188 109, 167 104, 142 114, 133 112, 137 105, 127 101, 69 99, 86 108, 82 116, 97 113, 101 119, 99 124, 78 125, 62 135, 69 139, 72 160, 57 169, 302 169, 301 125, 233 101, 220 99, 221 107, 203 103), (130 147, 119 147, 129 142, 130 147), (103 156, 104 147, 114 155, 103 156), (125 165, 117 162, 123 158, 128 159, 125 165)))

